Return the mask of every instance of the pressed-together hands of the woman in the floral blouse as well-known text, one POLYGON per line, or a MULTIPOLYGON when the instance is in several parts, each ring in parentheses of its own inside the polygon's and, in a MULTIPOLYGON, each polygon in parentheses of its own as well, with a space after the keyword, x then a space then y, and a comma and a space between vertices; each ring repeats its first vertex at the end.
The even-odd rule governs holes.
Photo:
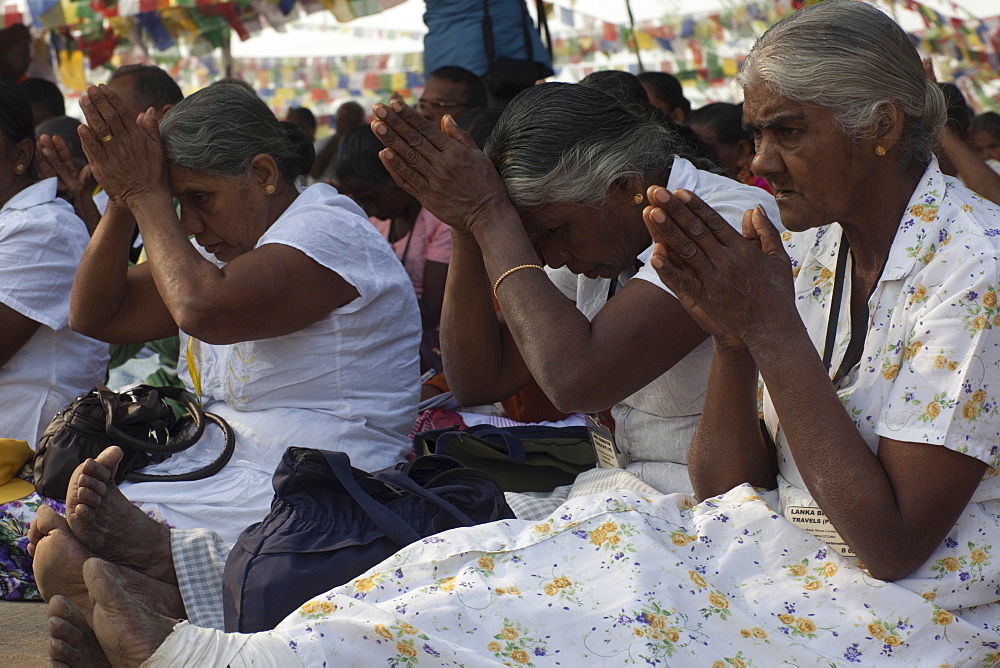
POLYGON ((740 235, 686 190, 652 186, 647 197, 642 217, 656 242, 650 263, 717 343, 749 345, 798 317, 791 262, 761 207, 744 215, 740 235))

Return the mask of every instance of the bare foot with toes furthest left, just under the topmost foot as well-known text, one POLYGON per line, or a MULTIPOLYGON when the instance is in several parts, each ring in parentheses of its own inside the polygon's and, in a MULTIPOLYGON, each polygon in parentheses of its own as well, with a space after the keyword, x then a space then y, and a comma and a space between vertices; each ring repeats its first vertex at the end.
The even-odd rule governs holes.
MULTIPOLYGON (((35 583, 42 598, 67 599, 91 622, 93 604, 83 577, 83 565, 95 555, 69 530, 66 519, 47 506, 39 508, 31 524, 35 583)), ((156 612, 184 617, 184 602, 176 585, 161 582, 126 567, 118 567, 132 595, 156 612)))

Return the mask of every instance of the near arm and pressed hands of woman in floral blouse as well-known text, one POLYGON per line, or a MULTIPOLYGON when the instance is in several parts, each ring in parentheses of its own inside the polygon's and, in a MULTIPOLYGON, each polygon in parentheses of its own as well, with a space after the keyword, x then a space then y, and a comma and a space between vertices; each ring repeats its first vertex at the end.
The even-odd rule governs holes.
POLYGON ((954 526, 986 464, 885 437, 872 452, 798 316, 791 264, 766 216, 753 217, 757 248, 691 193, 649 196, 654 268, 713 335, 744 343, 810 494, 873 576, 912 573, 954 526))

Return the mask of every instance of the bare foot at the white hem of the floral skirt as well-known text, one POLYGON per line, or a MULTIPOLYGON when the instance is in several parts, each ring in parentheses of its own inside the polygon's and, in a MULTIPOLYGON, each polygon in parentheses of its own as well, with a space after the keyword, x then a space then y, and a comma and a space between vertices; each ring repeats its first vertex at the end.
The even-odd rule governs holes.
POLYGON ((156 651, 177 624, 151 612, 125 588, 118 569, 88 559, 83 577, 94 605, 94 633, 112 666, 138 666, 156 651))

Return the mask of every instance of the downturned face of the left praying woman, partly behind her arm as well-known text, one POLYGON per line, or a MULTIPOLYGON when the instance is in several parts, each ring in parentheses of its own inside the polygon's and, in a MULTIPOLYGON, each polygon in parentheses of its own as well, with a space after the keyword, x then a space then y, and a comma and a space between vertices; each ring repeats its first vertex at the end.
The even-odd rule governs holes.
POLYGON ((267 231, 262 188, 176 166, 170 168, 170 187, 184 231, 223 262, 253 250, 267 231))

